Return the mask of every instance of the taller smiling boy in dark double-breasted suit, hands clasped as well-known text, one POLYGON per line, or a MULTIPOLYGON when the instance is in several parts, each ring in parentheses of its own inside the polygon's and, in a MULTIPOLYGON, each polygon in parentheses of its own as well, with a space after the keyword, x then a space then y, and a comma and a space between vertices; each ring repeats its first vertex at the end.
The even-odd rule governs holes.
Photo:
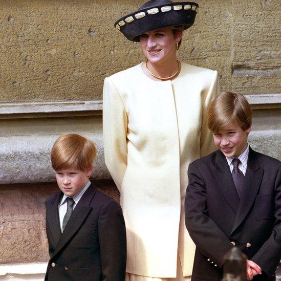
POLYGON ((281 163, 249 147, 247 99, 219 95, 208 127, 216 152, 189 165, 185 223, 196 244, 191 280, 221 280, 224 255, 247 256, 249 280, 275 280, 281 258, 281 163))

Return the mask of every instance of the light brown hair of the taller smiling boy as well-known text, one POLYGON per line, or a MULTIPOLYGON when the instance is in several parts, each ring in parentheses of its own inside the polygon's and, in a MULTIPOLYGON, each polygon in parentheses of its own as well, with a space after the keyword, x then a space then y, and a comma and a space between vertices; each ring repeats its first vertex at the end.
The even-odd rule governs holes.
POLYGON ((210 104, 207 125, 213 133, 229 123, 236 123, 243 131, 252 125, 252 110, 247 99, 237 93, 225 92, 217 96, 210 104))

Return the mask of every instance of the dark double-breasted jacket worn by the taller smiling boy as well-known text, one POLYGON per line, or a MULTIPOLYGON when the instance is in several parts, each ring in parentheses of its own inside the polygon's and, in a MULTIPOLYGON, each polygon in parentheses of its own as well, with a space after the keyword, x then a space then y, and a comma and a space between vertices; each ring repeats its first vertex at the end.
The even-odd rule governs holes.
POLYGON ((232 244, 274 274, 281 258, 281 162, 251 148, 241 199, 220 150, 192 162, 185 223, 196 244, 192 280, 221 280, 232 244), (232 243, 231 243, 232 242, 232 243))

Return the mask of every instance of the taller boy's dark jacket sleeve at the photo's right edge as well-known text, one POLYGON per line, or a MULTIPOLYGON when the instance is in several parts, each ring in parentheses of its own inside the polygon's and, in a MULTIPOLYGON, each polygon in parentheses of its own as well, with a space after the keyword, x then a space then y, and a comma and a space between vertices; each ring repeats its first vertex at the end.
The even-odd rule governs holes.
POLYGON ((259 265, 270 277, 274 274, 281 259, 281 168, 279 167, 275 181, 275 222, 272 234, 260 250, 252 257, 252 261, 259 265))

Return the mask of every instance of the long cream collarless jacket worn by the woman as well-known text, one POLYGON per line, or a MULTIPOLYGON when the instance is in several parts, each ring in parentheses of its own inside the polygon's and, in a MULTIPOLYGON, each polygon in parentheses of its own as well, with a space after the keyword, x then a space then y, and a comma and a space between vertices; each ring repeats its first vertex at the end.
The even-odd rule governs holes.
POLYGON ((218 91, 217 71, 184 62, 172 81, 149 79, 141 64, 104 80, 104 155, 121 193, 128 273, 176 277, 179 251, 191 275, 187 167, 214 150, 206 112, 218 91))

